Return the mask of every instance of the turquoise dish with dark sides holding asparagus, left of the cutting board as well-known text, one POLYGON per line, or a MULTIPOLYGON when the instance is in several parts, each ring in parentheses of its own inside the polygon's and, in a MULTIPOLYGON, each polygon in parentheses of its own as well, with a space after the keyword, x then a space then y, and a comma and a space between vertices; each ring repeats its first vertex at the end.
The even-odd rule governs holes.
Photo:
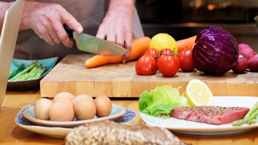
MULTIPOLYGON (((34 91, 40 83, 40 80, 54 67, 55 63, 57 62, 58 57, 53 57, 49 59, 39 59, 38 64, 42 64, 42 66, 47 66, 47 70, 41 74, 39 78, 23 80, 23 81, 8 81, 6 92, 32 92, 34 91)), ((31 65, 32 62, 36 60, 23 60, 23 59, 13 59, 10 72, 13 71, 16 67, 21 64, 24 64, 25 67, 31 65)), ((22 70, 16 72, 18 74, 22 70)), ((14 74, 12 77, 14 77, 14 74)))

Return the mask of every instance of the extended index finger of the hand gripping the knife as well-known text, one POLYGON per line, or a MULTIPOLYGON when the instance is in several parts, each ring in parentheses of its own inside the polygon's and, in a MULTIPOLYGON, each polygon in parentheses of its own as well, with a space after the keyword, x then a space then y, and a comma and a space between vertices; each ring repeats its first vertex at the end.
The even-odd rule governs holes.
POLYGON ((68 24, 69 26, 71 26, 75 32, 77 33, 83 32, 83 28, 81 24, 78 21, 76 21, 76 19, 70 13, 68 13, 64 8, 61 9, 61 17, 62 17, 62 20, 65 22, 65 24, 68 24))

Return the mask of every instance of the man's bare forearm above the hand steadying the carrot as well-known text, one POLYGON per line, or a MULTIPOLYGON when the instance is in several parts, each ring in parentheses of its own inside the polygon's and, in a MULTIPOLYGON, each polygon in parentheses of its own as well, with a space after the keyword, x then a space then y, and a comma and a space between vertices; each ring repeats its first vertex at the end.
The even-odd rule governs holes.
POLYGON ((126 13, 129 17, 133 16, 135 0, 110 0, 108 11, 126 13))

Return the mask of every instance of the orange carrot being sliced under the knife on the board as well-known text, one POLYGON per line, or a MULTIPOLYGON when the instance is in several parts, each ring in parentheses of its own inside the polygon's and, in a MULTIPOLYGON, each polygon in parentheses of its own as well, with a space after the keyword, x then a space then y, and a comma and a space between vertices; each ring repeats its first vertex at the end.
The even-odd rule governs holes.
MULTIPOLYGON (((128 59, 135 60, 143 56, 144 52, 149 49, 151 38, 140 37, 132 40, 132 51, 128 59)), ((97 67, 109 63, 120 63, 122 62, 122 56, 107 56, 107 55, 95 55, 85 62, 85 66, 88 68, 97 67)))

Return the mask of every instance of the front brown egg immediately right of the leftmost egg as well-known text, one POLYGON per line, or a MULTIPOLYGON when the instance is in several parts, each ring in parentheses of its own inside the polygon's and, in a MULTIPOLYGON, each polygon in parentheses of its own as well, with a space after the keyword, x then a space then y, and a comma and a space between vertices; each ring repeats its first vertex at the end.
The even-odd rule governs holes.
POLYGON ((73 108, 65 102, 55 102, 49 108, 49 117, 52 121, 72 121, 73 108))

